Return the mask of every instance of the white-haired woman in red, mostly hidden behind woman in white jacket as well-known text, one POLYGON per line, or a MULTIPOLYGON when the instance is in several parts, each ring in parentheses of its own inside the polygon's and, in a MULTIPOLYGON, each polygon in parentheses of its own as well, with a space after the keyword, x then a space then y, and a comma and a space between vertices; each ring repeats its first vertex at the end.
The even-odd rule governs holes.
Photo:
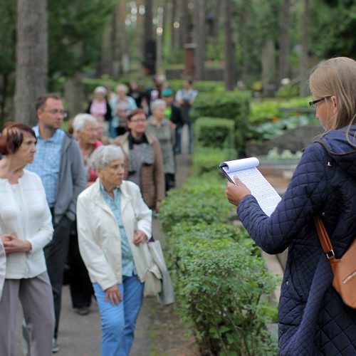
POLYGON ((90 114, 78 114, 73 120, 73 135, 78 140, 80 152, 83 156, 88 185, 95 182, 97 175, 90 167, 90 156, 103 142, 98 140, 98 119, 90 114))

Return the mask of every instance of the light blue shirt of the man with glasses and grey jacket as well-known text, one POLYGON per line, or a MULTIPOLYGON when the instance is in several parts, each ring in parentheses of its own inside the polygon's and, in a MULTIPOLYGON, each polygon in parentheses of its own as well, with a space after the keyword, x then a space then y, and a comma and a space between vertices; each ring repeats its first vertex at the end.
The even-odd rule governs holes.
POLYGON ((56 203, 58 174, 61 167, 62 142, 65 133, 63 130, 56 130, 50 139, 44 140, 40 135, 38 126, 33 127, 33 131, 37 137, 37 151, 35 159, 33 159, 31 164, 28 164, 26 169, 41 177, 48 205, 50 208, 53 208, 56 203))

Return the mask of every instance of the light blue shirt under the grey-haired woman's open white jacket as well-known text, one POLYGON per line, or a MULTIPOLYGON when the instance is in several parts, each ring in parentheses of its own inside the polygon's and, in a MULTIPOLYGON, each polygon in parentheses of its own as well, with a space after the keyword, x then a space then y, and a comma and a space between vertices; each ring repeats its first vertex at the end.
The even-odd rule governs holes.
POLYGON ((114 199, 110 197, 110 195, 105 192, 103 184, 100 183, 100 192, 103 195, 108 206, 112 213, 115 215, 115 219, 117 221, 117 225, 120 229, 120 237, 121 237, 121 261, 122 261, 122 276, 135 276, 137 275, 137 271, 135 268, 135 263, 132 258, 132 251, 127 239, 126 231, 124 228, 124 224, 122 223, 121 218, 121 210, 120 210, 120 199, 121 199, 121 192, 119 188, 115 188, 114 190, 114 199))

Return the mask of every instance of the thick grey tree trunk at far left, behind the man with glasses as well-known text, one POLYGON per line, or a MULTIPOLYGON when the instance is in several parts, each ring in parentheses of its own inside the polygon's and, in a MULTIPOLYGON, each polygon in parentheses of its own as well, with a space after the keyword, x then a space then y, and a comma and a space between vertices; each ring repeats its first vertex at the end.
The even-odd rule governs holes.
POLYGON ((36 125, 35 103, 46 93, 48 75, 46 0, 17 1, 15 120, 36 125))

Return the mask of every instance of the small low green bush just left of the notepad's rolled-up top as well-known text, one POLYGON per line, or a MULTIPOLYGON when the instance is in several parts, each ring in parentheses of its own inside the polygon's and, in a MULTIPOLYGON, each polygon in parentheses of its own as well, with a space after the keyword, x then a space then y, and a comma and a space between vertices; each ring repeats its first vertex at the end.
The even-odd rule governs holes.
POLYGON ((219 150, 211 147, 198 147, 193 156, 194 177, 201 174, 220 175, 219 163, 236 159, 235 150, 219 150))

